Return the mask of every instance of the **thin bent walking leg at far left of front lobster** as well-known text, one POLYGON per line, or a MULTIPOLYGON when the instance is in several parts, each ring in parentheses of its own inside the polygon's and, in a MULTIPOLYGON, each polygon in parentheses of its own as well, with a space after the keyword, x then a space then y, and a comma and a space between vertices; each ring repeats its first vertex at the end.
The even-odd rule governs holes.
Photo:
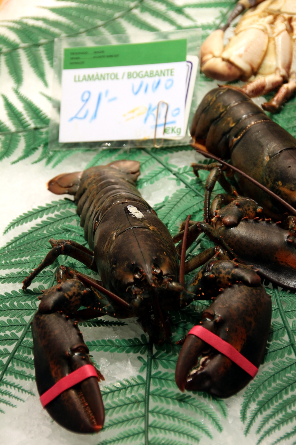
POLYGON ((51 244, 52 249, 48 252, 42 263, 40 263, 39 266, 36 267, 36 269, 33 270, 31 274, 24 279, 23 289, 27 289, 27 287, 30 286, 30 284, 32 283, 32 280, 41 271, 43 271, 45 267, 50 266, 59 255, 71 256, 71 258, 79 260, 92 271, 98 271, 95 264, 93 252, 82 246, 81 244, 75 243, 75 241, 71 241, 69 239, 59 239, 57 241, 55 239, 50 239, 49 243, 51 244))

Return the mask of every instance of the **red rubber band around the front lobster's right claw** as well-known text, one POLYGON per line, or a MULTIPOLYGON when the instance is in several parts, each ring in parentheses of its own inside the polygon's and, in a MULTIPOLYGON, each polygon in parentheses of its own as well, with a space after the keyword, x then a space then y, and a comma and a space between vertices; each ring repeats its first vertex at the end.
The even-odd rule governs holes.
POLYGON ((240 352, 231 346, 231 344, 227 343, 225 340, 222 340, 216 334, 213 334, 213 332, 208 331, 208 329, 205 329, 202 326, 194 326, 191 331, 188 332, 188 335, 189 334, 195 335, 196 337, 199 337, 201 340, 205 341, 205 343, 213 346, 213 348, 224 354, 245 372, 248 372, 252 378, 256 376, 258 368, 256 368, 253 363, 242 356, 240 352))

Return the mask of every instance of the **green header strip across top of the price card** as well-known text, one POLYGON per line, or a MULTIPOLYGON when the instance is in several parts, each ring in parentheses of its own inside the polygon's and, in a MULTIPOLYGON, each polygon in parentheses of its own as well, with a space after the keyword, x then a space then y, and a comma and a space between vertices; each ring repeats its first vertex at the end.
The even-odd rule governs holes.
POLYGON ((66 48, 63 69, 183 62, 187 40, 66 48))

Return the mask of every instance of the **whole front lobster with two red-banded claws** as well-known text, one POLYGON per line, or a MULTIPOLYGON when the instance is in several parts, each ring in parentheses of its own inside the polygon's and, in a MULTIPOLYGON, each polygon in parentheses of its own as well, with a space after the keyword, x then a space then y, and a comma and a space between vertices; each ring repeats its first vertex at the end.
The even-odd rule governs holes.
POLYGON ((100 275, 96 280, 60 266, 57 284, 43 292, 32 321, 40 400, 59 425, 77 433, 98 432, 104 422, 98 385, 103 376, 79 331, 81 320, 137 317, 150 341, 160 344, 170 336, 168 311, 212 299, 179 356, 181 390, 229 397, 251 380, 264 355, 271 299, 257 271, 242 264, 209 224, 189 227, 190 215, 184 231, 172 238, 136 189, 138 175, 138 162, 116 161, 53 178, 49 190, 75 195, 90 249, 51 239, 51 250, 24 280, 26 289, 59 255, 78 259, 100 275), (216 245, 185 262, 186 248, 202 232, 216 245), (185 283, 185 274, 200 266, 185 283))

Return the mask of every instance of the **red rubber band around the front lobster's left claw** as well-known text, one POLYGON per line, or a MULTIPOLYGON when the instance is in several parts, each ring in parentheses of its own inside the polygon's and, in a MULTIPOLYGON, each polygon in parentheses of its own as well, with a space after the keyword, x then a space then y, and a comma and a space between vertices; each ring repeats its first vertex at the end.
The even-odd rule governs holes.
POLYGON ((41 405, 45 408, 49 402, 59 396, 62 392, 66 391, 66 389, 77 385, 89 377, 98 378, 98 374, 91 364, 86 364, 81 368, 76 369, 76 371, 71 372, 71 374, 68 374, 56 382, 51 388, 44 392, 42 396, 40 396, 41 405))

